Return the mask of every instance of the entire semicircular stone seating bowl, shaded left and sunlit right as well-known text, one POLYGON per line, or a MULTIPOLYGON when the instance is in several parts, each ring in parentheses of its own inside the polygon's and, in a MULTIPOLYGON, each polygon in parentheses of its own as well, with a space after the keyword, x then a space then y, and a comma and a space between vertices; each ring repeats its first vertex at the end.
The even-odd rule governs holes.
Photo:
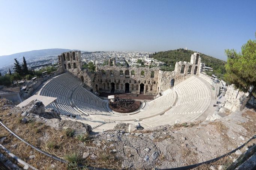
MULTIPOLYGON (((107 101, 82 87, 81 81, 69 72, 61 74, 42 87, 40 95, 56 97, 47 108, 58 110, 62 115, 77 115, 76 120, 98 127, 106 122, 141 121, 154 127, 195 120, 211 102, 209 88, 196 76, 167 89, 159 98, 146 102, 143 109, 130 115, 113 114, 107 101), (87 116, 89 115, 89 116, 87 116)), ((68 119, 68 118, 66 118, 68 119)))

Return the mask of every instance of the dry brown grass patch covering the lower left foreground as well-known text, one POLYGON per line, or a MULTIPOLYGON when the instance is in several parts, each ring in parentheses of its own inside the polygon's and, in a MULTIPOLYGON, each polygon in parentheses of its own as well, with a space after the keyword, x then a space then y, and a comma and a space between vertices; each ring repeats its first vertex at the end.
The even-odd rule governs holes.
POLYGON ((108 150, 102 151, 100 148, 88 150, 86 146, 95 147, 91 137, 87 134, 82 134, 74 137, 74 130, 66 129, 58 131, 45 124, 35 121, 28 121, 26 124, 17 123, 21 120, 20 116, 12 114, 7 116, 8 111, 0 112, 0 118, 3 123, 12 129, 18 136, 25 139, 27 142, 35 145, 43 151, 49 152, 52 155, 63 158, 69 161, 69 164, 55 161, 27 146, 14 136, 9 136, 8 131, 0 126, 2 136, 7 136, 3 145, 12 153, 31 164, 38 169, 50 169, 51 164, 56 165, 56 169, 80 169, 77 164, 88 166, 105 167, 109 169, 121 169, 120 160, 115 154, 108 150), (60 137, 62 136, 62 137, 60 137), (17 148, 13 149, 11 145, 17 143, 17 148), (93 152, 97 158, 91 160, 89 157, 82 159, 83 152, 93 152), (30 155, 35 155, 34 159, 29 159, 30 155))

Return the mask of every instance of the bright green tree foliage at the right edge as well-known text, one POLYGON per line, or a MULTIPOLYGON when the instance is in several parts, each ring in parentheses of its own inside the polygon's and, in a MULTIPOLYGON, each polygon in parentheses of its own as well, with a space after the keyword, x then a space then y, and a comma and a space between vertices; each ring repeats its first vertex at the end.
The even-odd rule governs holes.
POLYGON ((256 96, 256 40, 248 40, 241 47, 241 52, 234 49, 225 50, 227 64, 225 65, 225 80, 234 84, 243 92, 248 92, 253 87, 252 95, 256 96))

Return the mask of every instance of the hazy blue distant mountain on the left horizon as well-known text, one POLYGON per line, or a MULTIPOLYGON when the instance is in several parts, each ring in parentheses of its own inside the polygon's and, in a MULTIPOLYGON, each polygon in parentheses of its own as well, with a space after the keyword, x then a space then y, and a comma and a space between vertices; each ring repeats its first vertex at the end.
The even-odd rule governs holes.
POLYGON ((23 56, 26 60, 29 61, 35 57, 47 56, 47 55, 58 55, 63 52, 72 51, 70 49, 43 49, 43 50, 32 50, 27 52, 15 53, 11 55, 0 56, 0 67, 13 64, 14 58, 17 58, 18 61, 22 61, 23 56))

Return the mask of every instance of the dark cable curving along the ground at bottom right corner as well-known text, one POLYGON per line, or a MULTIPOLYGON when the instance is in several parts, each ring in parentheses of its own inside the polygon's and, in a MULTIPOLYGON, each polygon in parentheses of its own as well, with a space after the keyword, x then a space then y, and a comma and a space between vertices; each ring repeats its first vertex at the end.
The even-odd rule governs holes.
POLYGON ((189 170, 189 169, 193 169, 193 168, 196 168, 202 164, 209 164, 209 163, 212 163, 212 162, 215 162, 215 161, 218 161, 220 160, 221 158, 223 157, 226 157, 227 155, 230 155, 232 153, 234 153, 235 151, 237 151, 238 149, 241 149, 242 147, 244 147, 248 142, 250 142, 251 140, 255 139, 256 138, 256 135, 254 135, 253 137, 251 137, 251 139, 249 139, 247 142, 245 142, 244 144, 242 144, 241 146, 239 146, 238 148, 234 149, 233 151, 227 153, 227 154, 224 154, 224 155, 221 155, 220 157, 217 157, 217 158, 214 158, 212 160, 209 160, 209 161, 205 161, 205 162, 202 162, 202 163, 197 163, 197 164, 193 164, 193 165, 189 165, 189 166, 184 166, 184 167, 177 167, 177 168, 169 168, 169 169, 162 169, 162 170, 189 170))

